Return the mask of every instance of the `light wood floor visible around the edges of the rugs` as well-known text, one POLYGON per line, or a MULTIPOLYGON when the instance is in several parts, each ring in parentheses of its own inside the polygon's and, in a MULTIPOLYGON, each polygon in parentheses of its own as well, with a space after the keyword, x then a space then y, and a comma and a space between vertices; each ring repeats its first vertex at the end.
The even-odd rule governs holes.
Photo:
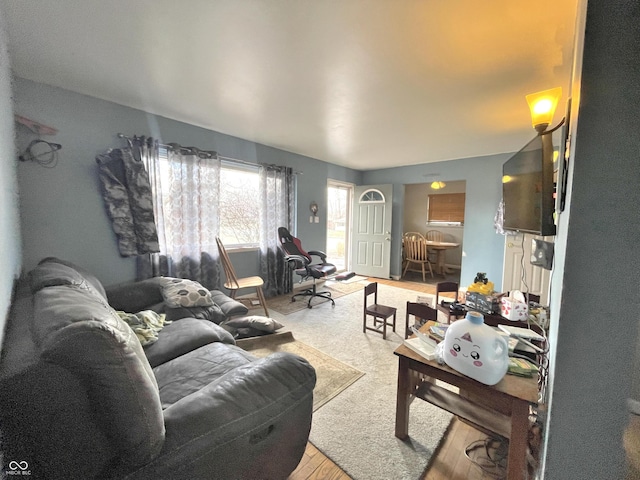
MULTIPOLYGON (((380 284, 416 290, 421 293, 434 295, 436 292, 433 284, 380 278, 372 278, 370 280, 380 284)), ((409 426, 409 429, 411 429, 411 426, 409 426)), ((438 452, 432 458, 431 464, 420 480, 495 479, 495 476, 483 472, 465 455, 465 448, 473 442, 483 441, 486 438, 486 434, 454 418, 440 444, 438 452)), ((289 476, 289 480, 347 480, 350 478, 338 465, 333 463, 331 459, 311 443, 307 444, 307 449, 298 468, 289 476)))

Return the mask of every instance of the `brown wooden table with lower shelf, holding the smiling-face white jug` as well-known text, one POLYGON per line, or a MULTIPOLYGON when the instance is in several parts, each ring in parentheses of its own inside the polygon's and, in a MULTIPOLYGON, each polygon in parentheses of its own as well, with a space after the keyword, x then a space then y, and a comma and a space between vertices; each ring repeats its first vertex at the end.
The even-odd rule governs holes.
MULTIPOLYGON (((428 333, 433 323, 427 322, 420 330, 428 333)), ((420 398, 508 438, 507 478, 526 478, 529 406, 538 402, 536 377, 505 375, 496 385, 489 386, 427 360, 404 345, 394 353, 399 359, 396 437, 408 437, 409 406, 414 398, 420 398), (458 387, 459 393, 436 385, 435 380, 458 387)))

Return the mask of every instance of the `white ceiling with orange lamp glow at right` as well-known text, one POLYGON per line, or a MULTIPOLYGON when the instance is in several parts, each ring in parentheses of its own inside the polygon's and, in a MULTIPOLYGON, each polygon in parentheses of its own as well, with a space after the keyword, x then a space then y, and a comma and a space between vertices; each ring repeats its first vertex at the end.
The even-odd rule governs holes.
MULTIPOLYGON (((359 170, 518 150, 577 0, 0 0, 16 75, 359 170)), ((178 139, 164 139, 179 141, 178 139)))

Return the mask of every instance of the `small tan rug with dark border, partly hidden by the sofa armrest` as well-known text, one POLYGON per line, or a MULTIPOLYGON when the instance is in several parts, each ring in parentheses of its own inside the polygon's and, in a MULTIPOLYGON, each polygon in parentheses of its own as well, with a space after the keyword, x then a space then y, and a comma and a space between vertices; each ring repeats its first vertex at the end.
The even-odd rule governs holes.
POLYGON ((237 345, 256 357, 266 357, 275 352, 289 352, 306 358, 316 369, 317 380, 313 389, 314 411, 364 375, 360 370, 296 340, 292 332, 242 339, 237 341, 237 345))

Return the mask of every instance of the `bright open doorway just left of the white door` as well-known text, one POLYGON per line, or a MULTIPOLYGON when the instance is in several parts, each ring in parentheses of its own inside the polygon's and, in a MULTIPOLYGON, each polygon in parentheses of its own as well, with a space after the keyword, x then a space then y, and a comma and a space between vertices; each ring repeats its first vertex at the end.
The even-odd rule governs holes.
POLYGON ((327 261, 338 272, 351 268, 351 204, 353 184, 327 181, 327 261))

